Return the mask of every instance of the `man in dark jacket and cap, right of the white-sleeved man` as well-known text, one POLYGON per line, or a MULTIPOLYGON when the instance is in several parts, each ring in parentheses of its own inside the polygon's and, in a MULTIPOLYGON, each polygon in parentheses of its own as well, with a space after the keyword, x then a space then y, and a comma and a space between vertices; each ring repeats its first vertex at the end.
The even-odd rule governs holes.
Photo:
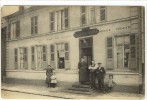
POLYGON ((101 66, 101 63, 98 63, 98 68, 96 70, 96 76, 98 79, 98 87, 105 93, 104 78, 105 78, 105 69, 101 66))

